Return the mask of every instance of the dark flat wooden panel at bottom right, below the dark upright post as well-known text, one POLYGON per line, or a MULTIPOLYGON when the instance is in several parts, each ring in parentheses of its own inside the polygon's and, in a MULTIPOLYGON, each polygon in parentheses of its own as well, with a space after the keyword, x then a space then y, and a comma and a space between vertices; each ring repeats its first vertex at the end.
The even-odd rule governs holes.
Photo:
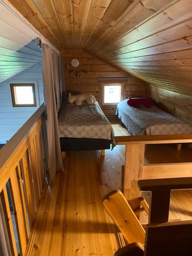
POLYGON ((147 225, 144 255, 191 256, 192 221, 176 221, 147 225))

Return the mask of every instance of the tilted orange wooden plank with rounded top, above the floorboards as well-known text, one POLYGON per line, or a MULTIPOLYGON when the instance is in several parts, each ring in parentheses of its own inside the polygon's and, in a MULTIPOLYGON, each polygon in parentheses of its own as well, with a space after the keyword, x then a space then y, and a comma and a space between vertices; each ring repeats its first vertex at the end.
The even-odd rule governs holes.
POLYGON ((145 230, 120 190, 114 190, 103 198, 103 206, 118 226, 127 243, 144 244, 145 230))

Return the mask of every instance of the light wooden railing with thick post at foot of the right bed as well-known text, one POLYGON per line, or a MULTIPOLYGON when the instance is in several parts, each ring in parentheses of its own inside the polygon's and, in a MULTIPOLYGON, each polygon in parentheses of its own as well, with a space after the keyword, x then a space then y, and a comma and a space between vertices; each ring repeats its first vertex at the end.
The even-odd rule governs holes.
POLYGON ((140 204, 134 200, 140 197, 138 180, 192 177, 192 156, 189 163, 144 164, 145 145, 192 142, 192 134, 119 136, 114 139, 117 145, 126 146, 122 183, 124 196, 130 201, 134 210, 140 207, 140 204))

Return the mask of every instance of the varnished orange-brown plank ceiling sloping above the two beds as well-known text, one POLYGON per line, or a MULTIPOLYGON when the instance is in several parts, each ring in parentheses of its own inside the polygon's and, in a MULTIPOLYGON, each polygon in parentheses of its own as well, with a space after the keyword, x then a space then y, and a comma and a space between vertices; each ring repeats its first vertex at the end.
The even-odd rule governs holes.
POLYGON ((9 0, 59 50, 84 49, 163 89, 192 94, 191 0, 9 0))

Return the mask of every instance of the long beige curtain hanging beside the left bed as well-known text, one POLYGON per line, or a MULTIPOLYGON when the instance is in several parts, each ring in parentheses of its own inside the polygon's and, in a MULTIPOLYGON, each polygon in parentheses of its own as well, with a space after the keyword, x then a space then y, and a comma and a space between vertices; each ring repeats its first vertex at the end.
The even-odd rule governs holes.
POLYGON ((59 82, 58 56, 59 54, 55 50, 42 43, 42 66, 47 113, 50 182, 55 179, 56 171, 63 171, 57 119, 57 114, 62 103, 60 97, 61 83, 59 82))

